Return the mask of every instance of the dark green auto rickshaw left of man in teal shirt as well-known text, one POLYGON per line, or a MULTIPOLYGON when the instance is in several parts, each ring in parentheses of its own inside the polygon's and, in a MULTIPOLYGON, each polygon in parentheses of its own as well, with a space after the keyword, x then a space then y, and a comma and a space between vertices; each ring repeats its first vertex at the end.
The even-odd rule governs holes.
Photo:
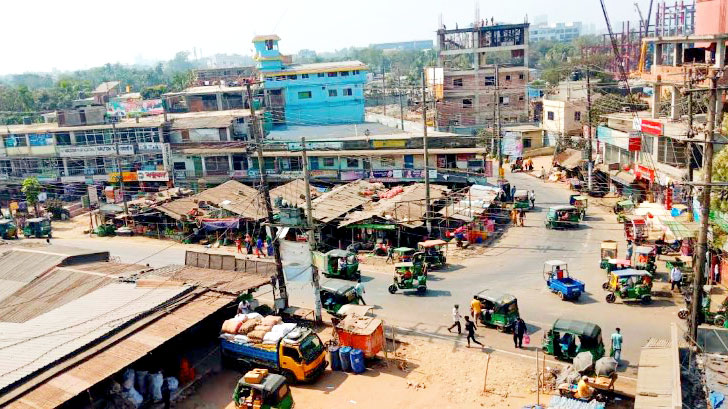
POLYGON ((580 352, 589 352, 594 362, 604 356, 602 329, 597 324, 559 318, 544 333, 542 349, 556 359, 571 361, 580 352))

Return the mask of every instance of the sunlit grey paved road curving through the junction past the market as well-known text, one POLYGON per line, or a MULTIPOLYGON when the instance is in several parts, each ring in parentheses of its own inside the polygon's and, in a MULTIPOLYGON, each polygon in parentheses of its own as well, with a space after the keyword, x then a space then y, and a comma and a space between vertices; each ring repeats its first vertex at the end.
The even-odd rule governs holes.
MULTIPOLYGON (((568 203, 570 192, 561 186, 546 184, 524 174, 511 174, 509 179, 519 189, 536 191, 537 209, 528 213, 525 227, 511 227, 485 254, 470 258, 462 265, 431 274, 425 296, 398 292, 390 295, 387 286, 392 280, 391 265, 367 268, 363 281, 365 300, 376 306, 377 315, 387 324, 415 331, 437 333, 456 339, 447 332, 453 304, 467 313, 473 294, 498 289, 518 298, 521 315, 530 326, 532 345, 540 345, 543 330, 558 317, 593 321, 604 331, 605 343, 614 328, 622 328, 623 359, 635 373, 640 347, 650 337, 668 337, 669 324, 679 321, 671 299, 658 299, 651 305, 607 304, 601 284, 605 273, 599 269, 599 246, 602 240, 620 241, 624 250, 621 225, 612 214, 598 208, 589 209, 585 224, 578 230, 557 231, 544 228, 545 212, 550 205, 568 203), (561 259, 569 264, 573 276, 586 282, 586 294, 578 302, 564 302, 550 293, 544 284, 542 265, 548 259, 561 259)), ((162 266, 183 263, 184 246, 170 242, 139 246, 113 238, 56 239, 57 244, 110 250, 123 262, 150 263, 162 266)), ((369 266, 367 266, 369 267, 369 266)), ((311 307, 309 285, 290 289, 291 303, 311 307)), ((513 348, 511 337, 495 330, 479 330, 486 345, 500 350, 522 352, 513 348)), ((533 352, 525 352, 533 354, 533 352)))

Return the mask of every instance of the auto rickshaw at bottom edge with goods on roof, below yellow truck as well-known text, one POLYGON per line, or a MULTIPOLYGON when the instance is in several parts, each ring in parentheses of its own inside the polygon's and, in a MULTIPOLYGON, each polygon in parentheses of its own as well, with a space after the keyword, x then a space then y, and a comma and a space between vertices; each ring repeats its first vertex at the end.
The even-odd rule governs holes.
POLYGON ((246 382, 245 376, 240 378, 233 391, 233 402, 238 408, 291 409, 294 407, 293 395, 285 376, 274 373, 267 373, 258 383, 246 382))

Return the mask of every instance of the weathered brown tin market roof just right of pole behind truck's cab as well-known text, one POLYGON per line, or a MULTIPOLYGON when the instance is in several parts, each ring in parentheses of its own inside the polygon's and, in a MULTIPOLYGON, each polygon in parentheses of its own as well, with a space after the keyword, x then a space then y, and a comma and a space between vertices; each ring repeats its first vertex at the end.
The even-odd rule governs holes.
POLYGON ((313 218, 324 223, 331 222, 372 200, 371 196, 360 195, 360 192, 381 189, 381 186, 381 183, 364 180, 337 186, 313 201, 313 218))

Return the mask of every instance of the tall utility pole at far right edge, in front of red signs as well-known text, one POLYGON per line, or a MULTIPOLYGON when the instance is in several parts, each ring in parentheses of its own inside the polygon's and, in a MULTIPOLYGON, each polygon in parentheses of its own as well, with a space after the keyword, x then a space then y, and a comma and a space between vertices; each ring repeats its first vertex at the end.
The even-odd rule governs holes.
POLYGON ((715 132, 715 105, 718 99, 718 73, 710 70, 710 98, 708 99, 707 130, 705 131, 705 155, 703 156, 703 191, 700 199, 700 233, 698 234, 697 267, 693 279, 693 300, 690 311, 690 338, 698 339, 698 314, 702 310, 703 278, 708 250, 708 218, 710 217, 710 190, 713 181, 713 133, 715 132))

